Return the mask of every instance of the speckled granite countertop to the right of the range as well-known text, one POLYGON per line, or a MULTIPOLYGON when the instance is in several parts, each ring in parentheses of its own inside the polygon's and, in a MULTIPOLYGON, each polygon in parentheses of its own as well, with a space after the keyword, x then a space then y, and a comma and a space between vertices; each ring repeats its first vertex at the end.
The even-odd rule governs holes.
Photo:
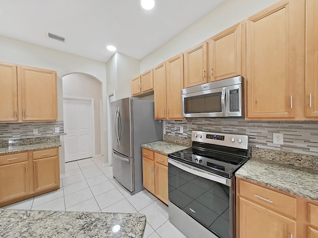
POLYGON ((318 202, 317 170, 251 158, 235 175, 242 179, 318 202))

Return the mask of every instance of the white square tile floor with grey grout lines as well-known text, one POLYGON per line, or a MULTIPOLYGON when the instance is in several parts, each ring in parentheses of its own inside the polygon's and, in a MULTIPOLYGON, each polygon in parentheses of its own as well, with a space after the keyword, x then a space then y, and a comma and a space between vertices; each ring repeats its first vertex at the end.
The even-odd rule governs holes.
POLYGON ((3 207, 7 209, 142 213, 144 238, 186 238, 168 221, 168 208, 147 190, 130 195, 103 158, 66 163, 67 177, 59 190, 3 207))

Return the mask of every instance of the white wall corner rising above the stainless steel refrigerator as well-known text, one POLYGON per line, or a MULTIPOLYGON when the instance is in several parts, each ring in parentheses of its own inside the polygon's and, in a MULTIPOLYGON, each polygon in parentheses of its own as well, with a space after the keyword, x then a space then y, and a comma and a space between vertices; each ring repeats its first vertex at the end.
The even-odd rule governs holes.
POLYGON ((131 79, 138 76, 140 61, 115 53, 106 63, 107 93, 115 92, 115 100, 131 96, 131 79))

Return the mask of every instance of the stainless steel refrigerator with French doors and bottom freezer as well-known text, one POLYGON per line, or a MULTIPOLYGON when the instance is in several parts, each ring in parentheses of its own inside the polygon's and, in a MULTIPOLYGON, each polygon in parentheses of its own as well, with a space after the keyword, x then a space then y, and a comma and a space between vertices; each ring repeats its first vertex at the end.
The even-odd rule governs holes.
POLYGON ((113 175, 131 194, 144 189, 142 144, 162 140, 154 102, 124 98, 111 102, 113 175))

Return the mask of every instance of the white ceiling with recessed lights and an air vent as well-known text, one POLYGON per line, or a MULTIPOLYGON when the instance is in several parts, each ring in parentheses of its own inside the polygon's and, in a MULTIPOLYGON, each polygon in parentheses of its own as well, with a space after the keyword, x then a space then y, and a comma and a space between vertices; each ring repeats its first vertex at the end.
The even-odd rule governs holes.
POLYGON ((225 0, 0 0, 0 35, 106 62, 143 59, 225 0), (47 34, 65 37, 65 43, 47 34))

